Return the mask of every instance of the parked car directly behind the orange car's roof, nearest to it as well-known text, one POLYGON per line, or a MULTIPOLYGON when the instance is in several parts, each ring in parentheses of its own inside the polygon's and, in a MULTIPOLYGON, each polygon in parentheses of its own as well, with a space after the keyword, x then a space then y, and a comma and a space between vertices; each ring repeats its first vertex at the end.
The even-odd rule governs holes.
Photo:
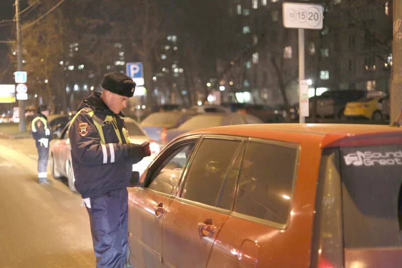
POLYGON ((190 130, 228 125, 261 124, 258 118, 243 113, 211 113, 197 115, 181 124, 178 128, 166 131, 166 143, 190 130))

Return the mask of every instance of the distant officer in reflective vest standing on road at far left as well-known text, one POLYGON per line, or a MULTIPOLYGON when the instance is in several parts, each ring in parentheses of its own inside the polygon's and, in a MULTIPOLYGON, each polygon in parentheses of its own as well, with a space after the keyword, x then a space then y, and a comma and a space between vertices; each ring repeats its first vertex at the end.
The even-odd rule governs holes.
POLYGON ((41 185, 49 184, 47 180, 47 161, 49 159, 50 129, 47 122, 49 109, 42 104, 38 107, 37 115, 32 120, 31 130, 38 150, 38 182, 41 185))

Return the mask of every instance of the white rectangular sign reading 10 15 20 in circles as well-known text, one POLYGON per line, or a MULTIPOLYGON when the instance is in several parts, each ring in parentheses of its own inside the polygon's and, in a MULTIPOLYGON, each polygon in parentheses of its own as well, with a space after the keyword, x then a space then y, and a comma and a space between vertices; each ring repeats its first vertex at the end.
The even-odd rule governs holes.
POLYGON ((314 4, 283 3, 285 28, 323 29, 323 6, 314 4))

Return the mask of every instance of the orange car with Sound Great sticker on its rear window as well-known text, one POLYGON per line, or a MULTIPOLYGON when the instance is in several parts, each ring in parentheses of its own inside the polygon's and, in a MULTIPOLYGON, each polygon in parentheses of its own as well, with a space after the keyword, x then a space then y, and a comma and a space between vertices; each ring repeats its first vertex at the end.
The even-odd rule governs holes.
MULTIPOLYGON (((186 133, 129 189, 134 267, 397 267, 402 129, 186 133)), ((399 263, 399 264, 398 264, 399 263)))

